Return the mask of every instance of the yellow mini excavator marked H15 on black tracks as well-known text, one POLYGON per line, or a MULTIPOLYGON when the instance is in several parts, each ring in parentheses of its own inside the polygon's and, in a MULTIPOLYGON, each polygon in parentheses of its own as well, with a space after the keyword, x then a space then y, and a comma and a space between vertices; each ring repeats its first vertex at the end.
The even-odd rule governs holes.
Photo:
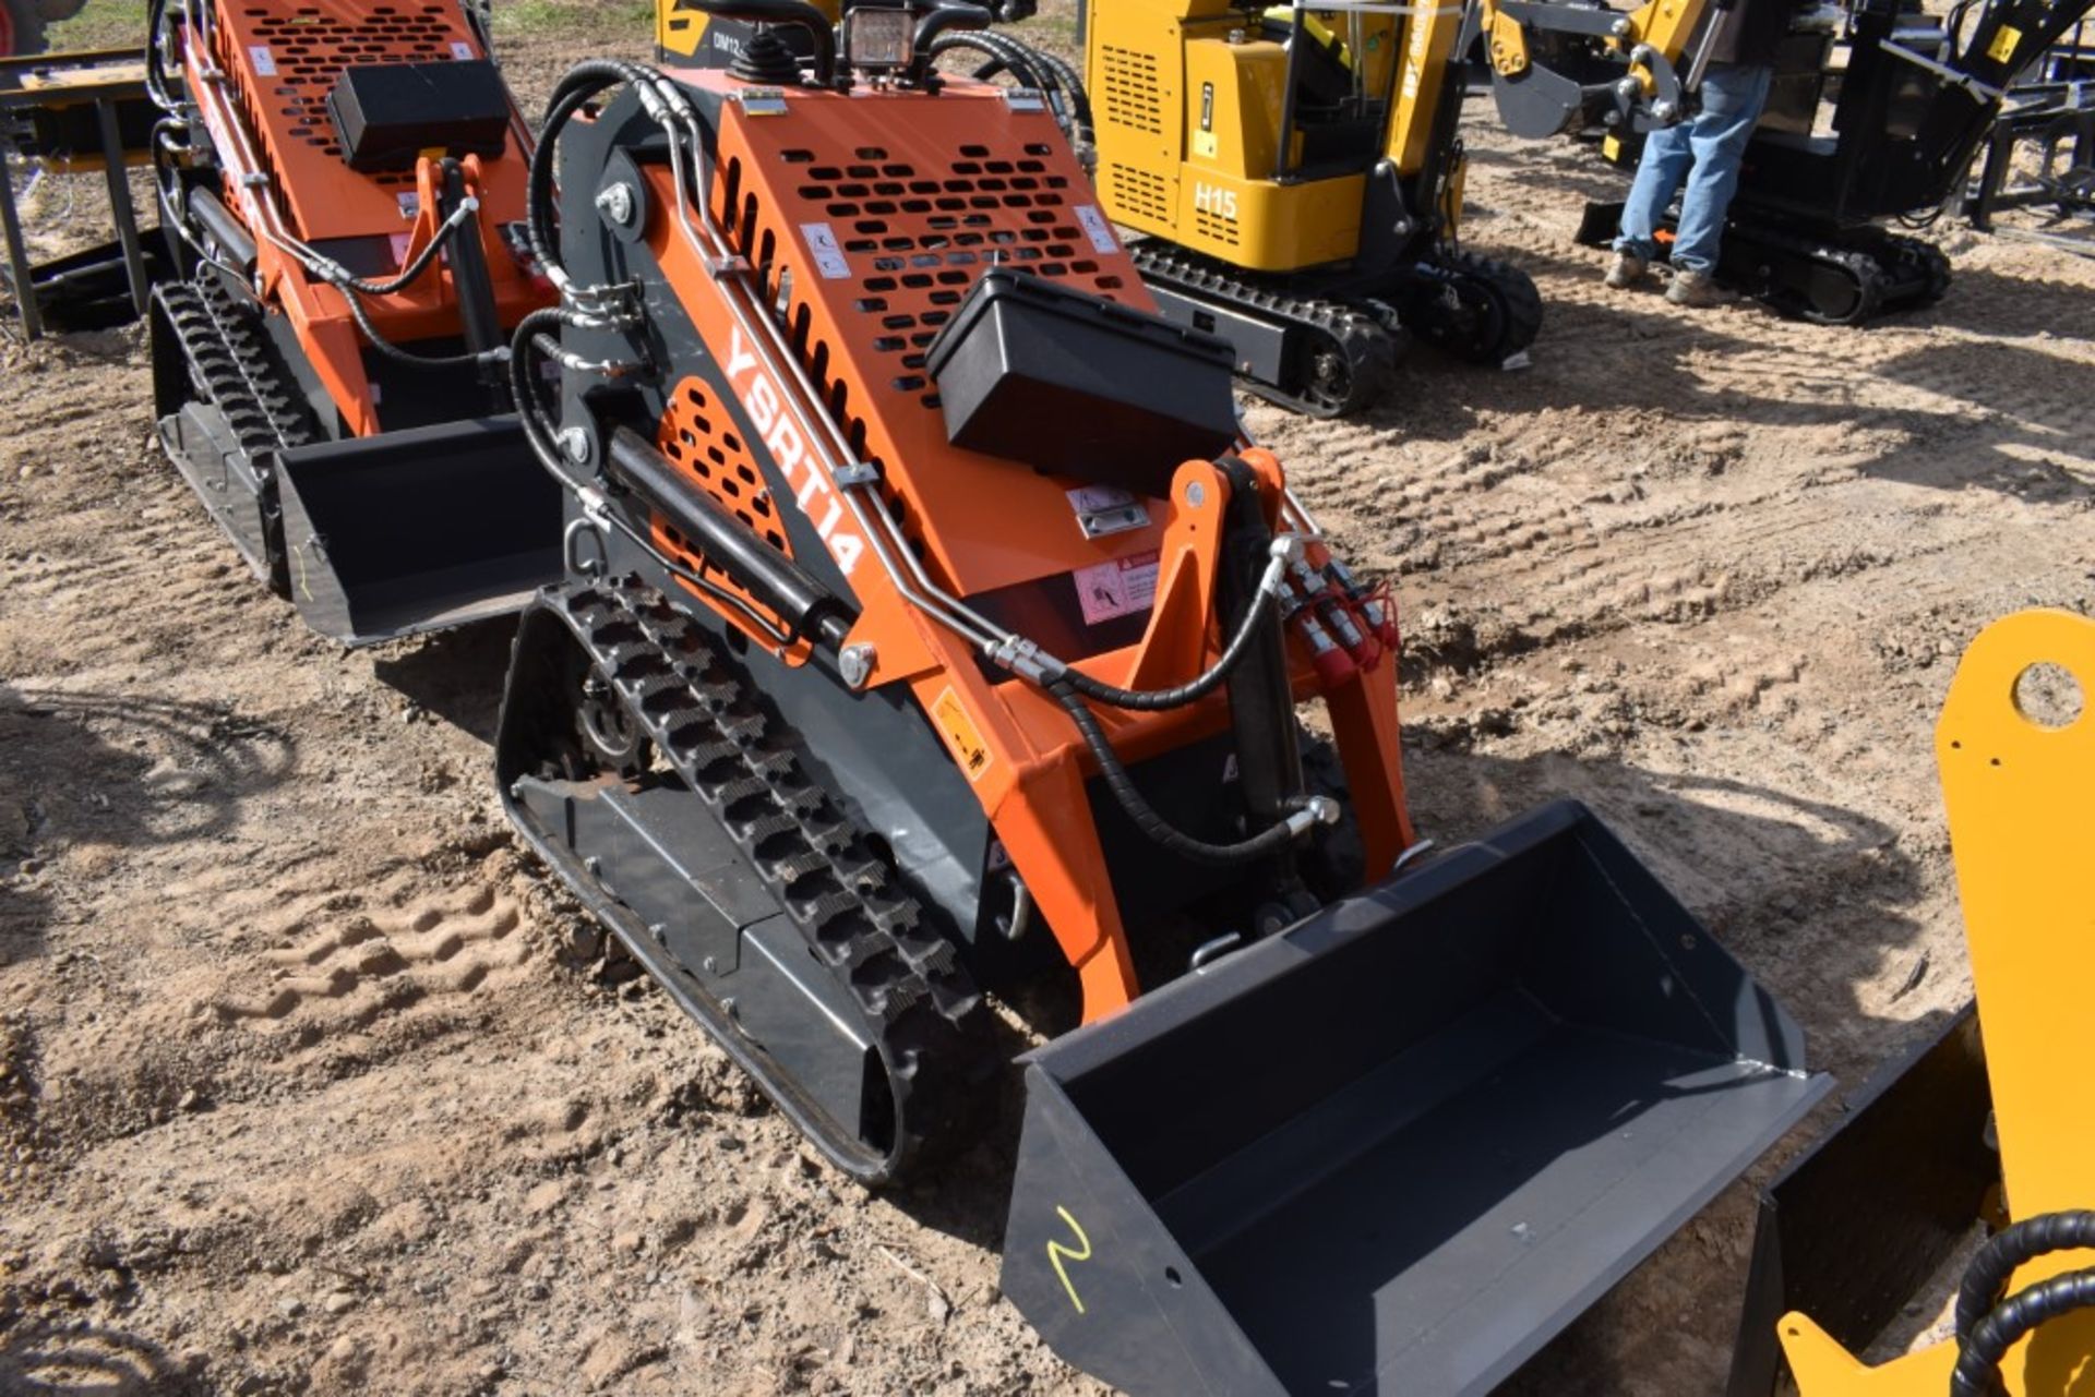
POLYGON ((1276 402, 1372 402, 1406 335, 1485 364, 1542 300, 1460 249, 1464 6, 1083 0, 1098 189, 1165 314, 1276 402))

